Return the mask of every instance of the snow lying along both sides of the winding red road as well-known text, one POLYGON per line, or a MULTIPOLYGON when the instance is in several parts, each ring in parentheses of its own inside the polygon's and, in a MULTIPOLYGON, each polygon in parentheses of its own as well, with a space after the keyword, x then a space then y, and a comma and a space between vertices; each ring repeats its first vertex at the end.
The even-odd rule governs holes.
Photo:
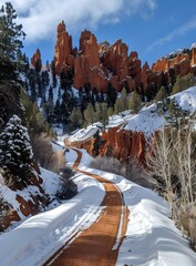
MULTIPOLYGON (((117 266, 196 265, 196 254, 168 218, 167 202, 151 190, 120 175, 90 168, 93 158, 84 150, 82 153, 79 167, 114 182, 130 211, 126 237, 120 247, 117 266)), ((65 153, 65 158, 73 164, 76 153, 70 150, 65 153)), ((41 172, 44 187, 52 194, 52 191, 56 190, 58 176, 45 170, 41 172), (53 177, 52 184, 47 183, 47 176, 53 177)), ((100 207, 105 194, 103 185, 85 174, 76 174, 74 182, 79 187, 75 197, 54 209, 27 219, 16 229, 0 236, 0 265, 42 265, 63 243, 71 243, 76 237, 75 233, 80 235, 80 232, 99 218, 103 211, 103 207, 100 207)), ((113 248, 116 248, 120 237, 121 226, 113 248)))

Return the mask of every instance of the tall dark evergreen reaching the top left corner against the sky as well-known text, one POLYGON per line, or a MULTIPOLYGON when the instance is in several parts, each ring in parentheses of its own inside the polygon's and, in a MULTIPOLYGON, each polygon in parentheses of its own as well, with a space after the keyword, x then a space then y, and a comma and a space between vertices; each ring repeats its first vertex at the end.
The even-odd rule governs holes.
MULTIPOLYGON (((24 32, 17 24, 16 10, 10 2, 0 8, 0 121, 4 125, 14 114, 22 114, 20 104, 20 73, 24 32)), ((1 127, 1 125, 0 125, 1 127)))

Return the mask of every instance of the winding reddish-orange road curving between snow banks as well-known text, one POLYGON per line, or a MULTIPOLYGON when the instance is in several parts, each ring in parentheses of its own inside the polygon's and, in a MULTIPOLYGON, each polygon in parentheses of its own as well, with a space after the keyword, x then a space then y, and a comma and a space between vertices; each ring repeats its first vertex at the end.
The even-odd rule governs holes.
POLYGON ((78 158, 73 168, 103 183, 105 197, 102 206, 104 206, 104 211, 93 225, 82 232, 71 244, 68 245, 65 243, 44 266, 115 265, 118 248, 126 232, 127 208, 124 206, 121 192, 112 182, 106 181, 100 175, 90 174, 78 168, 82 153, 78 150, 74 151, 78 153, 78 158))

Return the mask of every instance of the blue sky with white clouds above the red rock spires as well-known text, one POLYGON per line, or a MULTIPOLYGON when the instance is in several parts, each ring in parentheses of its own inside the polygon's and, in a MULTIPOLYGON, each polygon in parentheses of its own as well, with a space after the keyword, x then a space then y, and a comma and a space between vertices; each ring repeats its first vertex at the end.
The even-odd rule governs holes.
MULTIPOLYGON (((6 1, 1 1, 2 3, 6 1)), ((43 63, 54 55, 56 25, 64 20, 73 44, 91 30, 97 41, 122 39, 149 65, 196 42, 195 0, 12 0, 27 33, 24 52, 40 49, 43 63)))

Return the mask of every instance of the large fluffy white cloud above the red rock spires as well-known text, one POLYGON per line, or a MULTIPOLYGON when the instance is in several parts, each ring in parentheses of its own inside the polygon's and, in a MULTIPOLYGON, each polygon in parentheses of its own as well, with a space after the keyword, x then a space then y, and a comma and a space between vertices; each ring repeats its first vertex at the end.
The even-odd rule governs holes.
POLYGON ((69 30, 79 32, 101 23, 117 23, 125 14, 138 13, 145 18, 156 8, 156 0, 12 0, 11 3, 29 41, 53 37, 62 20, 69 30))

